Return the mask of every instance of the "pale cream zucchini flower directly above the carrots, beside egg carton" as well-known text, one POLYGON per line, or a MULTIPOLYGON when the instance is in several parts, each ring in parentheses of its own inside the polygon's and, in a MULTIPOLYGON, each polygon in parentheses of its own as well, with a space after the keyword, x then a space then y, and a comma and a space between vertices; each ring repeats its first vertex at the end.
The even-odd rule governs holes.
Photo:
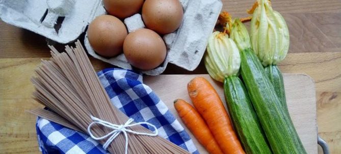
POLYGON ((214 32, 208 39, 205 67, 208 74, 217 81, 237 75, 241 58, 237 45, 228 34, 214 32))

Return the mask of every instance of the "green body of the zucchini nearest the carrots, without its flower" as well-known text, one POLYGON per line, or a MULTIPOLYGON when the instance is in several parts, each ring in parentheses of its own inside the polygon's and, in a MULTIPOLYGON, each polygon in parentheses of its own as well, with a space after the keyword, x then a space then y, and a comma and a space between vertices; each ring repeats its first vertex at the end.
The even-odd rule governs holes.
POLYGON ((239 77, 225 77, 224 92, 233 125, 246 153, 272 153, 239 77))

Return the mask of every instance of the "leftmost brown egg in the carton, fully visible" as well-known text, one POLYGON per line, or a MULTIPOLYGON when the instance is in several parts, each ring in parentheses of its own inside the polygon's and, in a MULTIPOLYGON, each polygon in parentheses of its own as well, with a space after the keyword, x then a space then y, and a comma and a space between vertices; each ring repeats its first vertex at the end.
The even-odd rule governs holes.
POLYGON ((91 47, 102 56, 112 57, 122 52, 127 29, 123 22, 111 15, 96 17, 88 28, 91 47))

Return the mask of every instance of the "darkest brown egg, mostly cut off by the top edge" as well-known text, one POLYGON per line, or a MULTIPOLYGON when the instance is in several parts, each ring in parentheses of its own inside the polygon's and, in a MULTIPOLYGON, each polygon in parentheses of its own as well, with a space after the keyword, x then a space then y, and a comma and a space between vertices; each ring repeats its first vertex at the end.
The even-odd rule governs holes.
POLYGON ((118 18, 126 18, 138 13, 143 0, 103 0, 107 12, 118 18))

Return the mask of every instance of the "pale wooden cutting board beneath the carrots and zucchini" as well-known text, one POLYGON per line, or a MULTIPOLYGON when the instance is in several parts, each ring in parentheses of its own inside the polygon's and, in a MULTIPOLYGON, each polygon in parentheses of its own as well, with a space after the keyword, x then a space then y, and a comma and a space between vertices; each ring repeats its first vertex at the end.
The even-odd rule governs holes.
MULTIPOLYGON (((146 76, 143 80, 144 83, 149 85, 169 107, 171 112, 173 112, 179 120, 180 124, 185 127, 174 109, 173 101, 181 98, 191 102, 187 94, 187 83, 197 76, 205 77, 212 83, 226 108, 222 83, 213 81, 212 78, 206 74, 146 76)), ((313 80, 309 76, 303 74, 284 74, 284 86, 290 115, 307 153, 318 153, 316 96, 313 80)), ((199 152, 207 153, 193 137, 192 133, 186 127, 185 129, 192 137, 199 152)))

